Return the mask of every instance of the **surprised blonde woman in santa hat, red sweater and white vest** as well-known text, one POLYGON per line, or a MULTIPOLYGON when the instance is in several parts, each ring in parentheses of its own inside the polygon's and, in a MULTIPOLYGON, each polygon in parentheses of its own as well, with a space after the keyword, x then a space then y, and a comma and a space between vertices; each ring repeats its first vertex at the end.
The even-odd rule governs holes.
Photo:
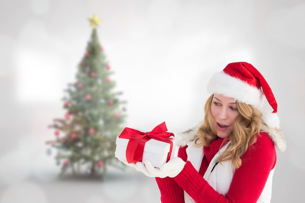
POLYGON ((284 151, 286 142, 269 85, 237 62, 212 76, 208 92, 204 121, 179 134, 178 157, 133 166, 155 177, 162 203, 270 203, 275 147, 284 151), (272 113, 262 113, 264 96, 272 113))

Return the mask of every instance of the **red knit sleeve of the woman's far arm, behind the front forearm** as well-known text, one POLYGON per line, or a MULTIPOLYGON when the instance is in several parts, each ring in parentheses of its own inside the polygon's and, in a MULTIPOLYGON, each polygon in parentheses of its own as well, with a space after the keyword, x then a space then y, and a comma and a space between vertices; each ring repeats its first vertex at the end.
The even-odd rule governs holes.
MULTIPOLYGON (((179 148, 178 157, 187 161, 186 148, 179 148)), ((172 178, 155 178, 162 203, 184 203, 184 191, 172 178)))

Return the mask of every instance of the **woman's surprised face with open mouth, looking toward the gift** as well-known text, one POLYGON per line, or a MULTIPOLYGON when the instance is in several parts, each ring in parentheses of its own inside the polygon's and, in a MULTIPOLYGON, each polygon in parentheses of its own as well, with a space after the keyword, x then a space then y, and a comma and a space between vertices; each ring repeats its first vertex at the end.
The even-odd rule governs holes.
POLYGON ((239 112, 233 98, 214 94, 211 103, 211 114, 214 118, 217 136, 225 138, 232 131, 233 123, 239 112))

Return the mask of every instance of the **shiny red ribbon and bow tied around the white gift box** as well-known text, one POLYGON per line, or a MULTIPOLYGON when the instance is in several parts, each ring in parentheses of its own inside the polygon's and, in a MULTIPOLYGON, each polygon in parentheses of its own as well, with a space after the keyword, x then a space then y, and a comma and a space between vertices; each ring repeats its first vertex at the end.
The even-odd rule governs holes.
POLYGON ((165 122, 156 126, 150 132, 141 132, 136 129, 125 128, 118 137, 130 139, 126 148, 127 162, 142 162, 145 143, 150 139, 159 140, 162 142, 169 143, 171 145, 170 152, 167 156, 167 161, 169 161, 171 158, 173 147, 172 141, 169 140, 169 137, 174 136, 174 134, 172 132, 166 131, 167 128, 165 122))

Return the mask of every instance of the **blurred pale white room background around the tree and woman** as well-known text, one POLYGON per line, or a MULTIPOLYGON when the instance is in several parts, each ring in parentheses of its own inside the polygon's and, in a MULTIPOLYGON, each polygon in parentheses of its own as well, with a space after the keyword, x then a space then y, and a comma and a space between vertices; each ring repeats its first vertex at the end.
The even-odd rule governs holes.
POLYGON ((59 179, 46 153, 47 126, 64 114, 63 89, 75 81, 93 14, 130 128, 194 126, 210 76, 230 62, 254 65, 275 94, 287 141, 271 202, 303 202, 303 0, 0 0, 0 203, 160 202, 154 180, 133 168, 112 169, 104 181, 59 179))

